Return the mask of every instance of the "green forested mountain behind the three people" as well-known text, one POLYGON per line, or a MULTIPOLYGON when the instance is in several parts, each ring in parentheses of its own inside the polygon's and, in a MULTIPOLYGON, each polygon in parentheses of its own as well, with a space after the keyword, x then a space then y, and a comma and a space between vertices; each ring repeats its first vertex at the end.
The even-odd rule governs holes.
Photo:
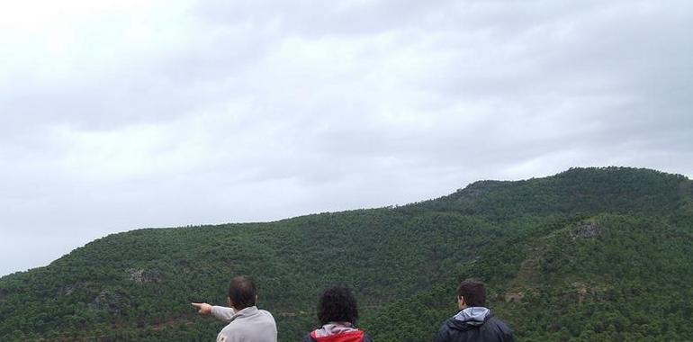
POLYGON ((356 292, 377 341, 428 341, 459 280, 488 285, 520 340, 693 340, 693 183, 624 167, 481 181, 436 200, 267 223, 138 229, 0 278, 0 340, 213 340, 253 275, 282 341, 321 290, 356 292))

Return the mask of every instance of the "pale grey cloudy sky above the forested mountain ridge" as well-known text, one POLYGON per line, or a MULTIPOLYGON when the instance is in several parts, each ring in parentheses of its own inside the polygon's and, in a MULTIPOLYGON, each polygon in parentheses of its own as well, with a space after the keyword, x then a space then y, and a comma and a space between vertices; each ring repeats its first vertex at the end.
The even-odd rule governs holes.
POLYGON ((0 10, 0 275, 113 232, 693 176, 693 2, 25 0, 0 10))

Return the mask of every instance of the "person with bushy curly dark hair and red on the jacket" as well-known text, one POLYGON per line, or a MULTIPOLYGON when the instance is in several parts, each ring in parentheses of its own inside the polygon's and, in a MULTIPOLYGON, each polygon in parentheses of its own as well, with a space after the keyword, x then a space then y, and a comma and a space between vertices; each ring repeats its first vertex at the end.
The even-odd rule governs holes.
POLYGON ((364 331, 357 329, 356 298, 343 286, 325 290, 318 302, 319 329, 311 331, 303 342, 373 342, 364 331))

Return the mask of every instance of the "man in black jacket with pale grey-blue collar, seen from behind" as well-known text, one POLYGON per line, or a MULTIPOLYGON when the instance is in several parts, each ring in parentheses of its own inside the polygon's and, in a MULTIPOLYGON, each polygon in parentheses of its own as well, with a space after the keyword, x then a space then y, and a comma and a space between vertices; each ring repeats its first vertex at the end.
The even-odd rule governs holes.
POLYGON ((438 330, 436 342, 515 341, 512 331, 485 307, 483 283, 467 279, 457 288, 460 311, 438 330))

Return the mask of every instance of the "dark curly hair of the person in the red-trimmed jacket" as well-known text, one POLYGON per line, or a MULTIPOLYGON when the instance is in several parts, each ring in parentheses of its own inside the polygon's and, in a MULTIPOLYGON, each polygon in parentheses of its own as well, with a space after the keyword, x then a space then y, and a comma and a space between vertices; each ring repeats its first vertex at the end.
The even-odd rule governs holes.
POLYGON ((356 324, 358 309, 354 294, 344 286, 332 286, 325 290, 318 302, 318 320, 321 325, 329 322, 356 324))

